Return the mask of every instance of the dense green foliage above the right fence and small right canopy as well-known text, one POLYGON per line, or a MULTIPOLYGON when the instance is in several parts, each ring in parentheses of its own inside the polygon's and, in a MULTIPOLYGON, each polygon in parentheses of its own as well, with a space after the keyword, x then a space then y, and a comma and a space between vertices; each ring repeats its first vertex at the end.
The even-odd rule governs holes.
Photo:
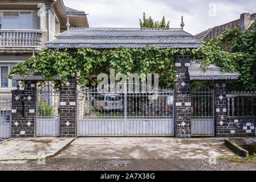
POLYGON ((238 80, 227 81, 227 90, 256 90, 256 28, 243 32, 239 28, 227 29, 223 34, 192 51, 194 58, 203 58, 202 66, 207 69, 215 63, 223 71, 241 74, 238 80), (209 51, 210 50, 210 51, 209 51), (226 51, 222 51, 226 50, 226 51))

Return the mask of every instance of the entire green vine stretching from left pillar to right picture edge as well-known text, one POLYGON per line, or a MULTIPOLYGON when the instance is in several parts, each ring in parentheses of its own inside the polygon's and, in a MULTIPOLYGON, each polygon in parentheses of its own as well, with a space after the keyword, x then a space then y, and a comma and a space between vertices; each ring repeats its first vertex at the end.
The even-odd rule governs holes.
POLYGON ((99 73, 109 74, 110 69, 116 73, 159 73, 159 85, 173 88, 175 81, 174 55, 190 52, 192 59, 202 59, 202 68, 216 64, 226 72, 241 73, 237 81, 229 81, 228 88, 235 90, 256 89, 256 42, 255 29, 241 32, 238 29, 228 30, 224 34, 206 40, 197 49, 170 49, 147 46, 145 48, 93 49, 80 48, 76 51, 68 49, 42 49, 36 57, 11 68, 11 75, 27 77, 30 73, 38 73, 46 80, 54 82, 58 87, 67 82, 68 76, 78 74, 78 84, 94 86, 97 80, 93 76, 99 73), (231 46, 232 51, 223 51, 231 46), (60 76, 62 80, 56 80, 60 76))

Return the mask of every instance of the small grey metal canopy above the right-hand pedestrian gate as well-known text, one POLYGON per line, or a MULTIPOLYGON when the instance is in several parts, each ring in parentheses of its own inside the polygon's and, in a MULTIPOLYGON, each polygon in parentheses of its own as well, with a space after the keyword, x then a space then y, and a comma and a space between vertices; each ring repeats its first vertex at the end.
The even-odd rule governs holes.
POLYGON ((235 72, 222 72, 220 67, 210 64, 208 69, 201 66, 202 60, 192 60, 188 67, 190 80, 235 80, 241 76, 235 72))

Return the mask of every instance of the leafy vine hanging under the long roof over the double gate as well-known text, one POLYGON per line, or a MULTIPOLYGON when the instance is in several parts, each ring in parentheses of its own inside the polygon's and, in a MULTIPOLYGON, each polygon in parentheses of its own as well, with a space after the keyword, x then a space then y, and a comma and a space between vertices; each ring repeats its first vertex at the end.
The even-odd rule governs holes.
POLYGON ((99 73, 109 74, 109 69, 116 73, 159 73, 159 85, 173 87, 175 80, 174 53, 189 50, 146 48, 92 49, 80 48, 75 52, 67 49, 42 49, 36 57, 11 68, 11 75, 27 77, 31 73, 40 74, 57 87, 67 82, 68 76, 76 76, 80 86, 96 85, 92 76, 99 73), (60 76, 60 81, 55 76, 60 76))

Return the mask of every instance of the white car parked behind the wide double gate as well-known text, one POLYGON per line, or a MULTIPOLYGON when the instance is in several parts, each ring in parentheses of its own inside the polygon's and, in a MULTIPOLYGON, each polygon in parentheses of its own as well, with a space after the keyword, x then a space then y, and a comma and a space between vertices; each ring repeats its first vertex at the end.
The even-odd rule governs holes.
POLYGON ((122 97, 117 94, 103 94, 95 97, 94 107, 96 110, 111 111, 122 110, 124 102, 122 97))

